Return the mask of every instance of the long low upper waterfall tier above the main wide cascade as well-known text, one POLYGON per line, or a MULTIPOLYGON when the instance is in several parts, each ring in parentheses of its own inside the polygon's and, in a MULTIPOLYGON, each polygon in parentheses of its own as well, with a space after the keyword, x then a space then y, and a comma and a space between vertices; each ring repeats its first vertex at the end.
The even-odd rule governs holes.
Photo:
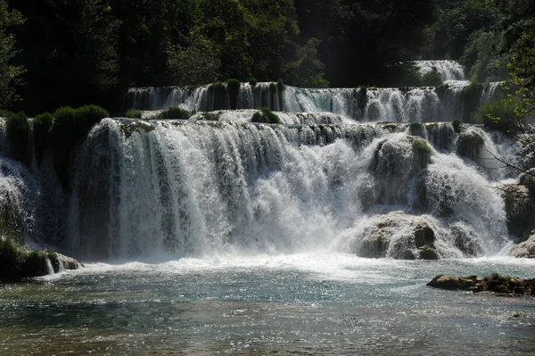
POLYGON ((305 89, 243 83, 235 94, 226 86, 140 87, 128 91, 128 104, 139 110, 179 106, 195 112, 268 107, 276 112, 332 112, 365 122, 472 122, 472 113, 490 100, 499 83, 469 84, 449 81, 441 87, 305 89))

